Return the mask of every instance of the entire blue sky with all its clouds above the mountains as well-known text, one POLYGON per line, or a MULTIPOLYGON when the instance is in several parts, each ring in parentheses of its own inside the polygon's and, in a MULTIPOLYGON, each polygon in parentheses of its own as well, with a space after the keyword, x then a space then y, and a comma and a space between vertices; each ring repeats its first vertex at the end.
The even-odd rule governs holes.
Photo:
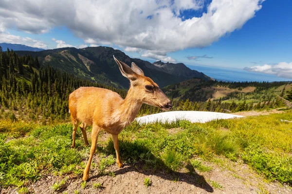
POLYGON ((110 46, 134 58, 292 79, 292 0, 1 0, 0 43, 110 46))

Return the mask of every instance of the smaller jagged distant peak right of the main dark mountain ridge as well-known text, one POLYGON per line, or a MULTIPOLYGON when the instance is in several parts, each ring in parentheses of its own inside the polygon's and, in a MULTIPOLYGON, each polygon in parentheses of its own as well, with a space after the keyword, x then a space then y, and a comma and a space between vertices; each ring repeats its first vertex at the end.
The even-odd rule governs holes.
POLYGON ((168 72, 175 76, 183 77, 185 80, 191 78, 201 78, 203 80, 210 80, 210 77, 196 70, 191 70, 183 63, 173 64, 168 62, 163 63, 162 61, 157 61, 154 62, 153 65, 161 68, 164 72, 168 72))

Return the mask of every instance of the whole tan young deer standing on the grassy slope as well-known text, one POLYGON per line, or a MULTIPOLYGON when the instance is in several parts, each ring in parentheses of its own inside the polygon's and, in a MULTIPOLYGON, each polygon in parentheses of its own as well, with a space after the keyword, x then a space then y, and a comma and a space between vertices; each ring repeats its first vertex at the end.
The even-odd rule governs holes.
MULTIPOLYGON (((114 57, 113 57, 114 58, 114 57)), ((101 129, 112 136, 117 156, 117 164, 121 168, 118 134, 137 116, 143 103, 156 106, 164 111, 171 109, 172 104, 158 85, 144 76, 143 71, 134 63, 130 68, 114 58, 123 76, 129 79, 130 88, 127 97, 103 88, 80 87, 69 96, 69 110, 73 123, 73 145, 75 146, 76 130, 79 122, 85 145, 88 145, 86 128, 92 125, 90 157, 83 172, 83 180, 89 178, 89 170, 93 154, 96 150, 98 133, 101 129)))

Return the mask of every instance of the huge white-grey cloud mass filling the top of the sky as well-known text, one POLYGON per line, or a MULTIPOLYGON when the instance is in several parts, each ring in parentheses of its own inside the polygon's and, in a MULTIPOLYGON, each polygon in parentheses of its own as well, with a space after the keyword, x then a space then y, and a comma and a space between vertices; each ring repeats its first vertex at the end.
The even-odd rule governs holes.
POLYGON ((183 20, 180 11, 201 10, 204 1, 1 0, 0 30, 44 33, 67 26, 86 44, 171 52, 206 47, 240 29, 262 1, 213 0, 201 17, 183 20))

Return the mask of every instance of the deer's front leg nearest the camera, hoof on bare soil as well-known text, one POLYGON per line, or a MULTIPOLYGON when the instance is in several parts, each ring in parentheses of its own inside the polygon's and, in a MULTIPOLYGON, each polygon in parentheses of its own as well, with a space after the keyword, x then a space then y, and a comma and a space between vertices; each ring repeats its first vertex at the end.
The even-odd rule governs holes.
POLYGON ((93 155, 94 155, 95 150, 96 150, 96 143, 97 143, 97 138, 98 138, 99 131, 100 131, 100 128, 93 124, 92 132, 91 132, 90 156, 89 156, 87 165, 86 165, 86 167, 85 167, 85 169, 83 171, 82 180, 88 180, 88 178, 89 178, 90 165, 91 165, 91 161, 92 161, 93 155))

